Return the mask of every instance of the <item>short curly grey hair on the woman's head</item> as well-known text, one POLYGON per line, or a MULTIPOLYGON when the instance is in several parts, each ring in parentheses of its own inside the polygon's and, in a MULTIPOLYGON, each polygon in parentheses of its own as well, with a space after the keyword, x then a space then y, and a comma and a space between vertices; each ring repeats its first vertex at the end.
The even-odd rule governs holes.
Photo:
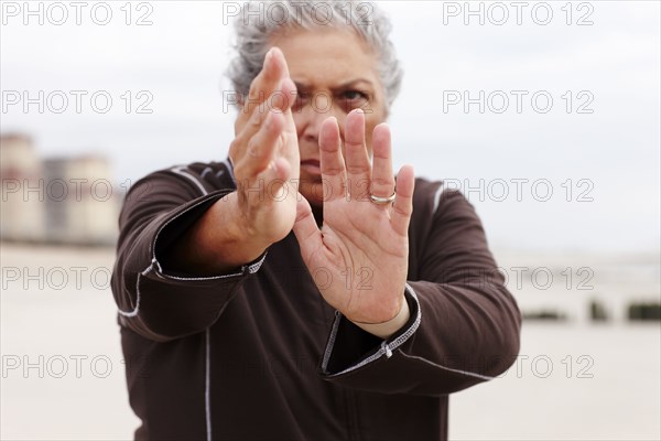
POLYGON ((373 49, 379 60, 377 71, 386 93, 387 110, 399 94, 403 72, 389 40, 391 24, 375 3, 360 0, 247 1, 237 12, 237 56, 226 74, 243 99, 261 71, 271 36, 283 29, 313 30, 324 25, 353 29, 373 49))

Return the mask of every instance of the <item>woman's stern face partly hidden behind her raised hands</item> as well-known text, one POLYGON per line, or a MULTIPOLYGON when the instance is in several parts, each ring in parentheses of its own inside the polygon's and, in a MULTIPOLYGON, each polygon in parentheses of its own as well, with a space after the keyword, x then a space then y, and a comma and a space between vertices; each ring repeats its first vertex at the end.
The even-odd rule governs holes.
POLYGON ((353 31, 330 26, 290 32, 273 37, 271 43, 282 50, 297 88, 292 114, 301 151, 299 191, 313 206, 319 207, 323 202, 318 144, 322 122, 329 117, 337 118, 344 140, 348 112, 361 108, 367 149, 371 155, 372 130, 386 120, 377 56, 353 31))

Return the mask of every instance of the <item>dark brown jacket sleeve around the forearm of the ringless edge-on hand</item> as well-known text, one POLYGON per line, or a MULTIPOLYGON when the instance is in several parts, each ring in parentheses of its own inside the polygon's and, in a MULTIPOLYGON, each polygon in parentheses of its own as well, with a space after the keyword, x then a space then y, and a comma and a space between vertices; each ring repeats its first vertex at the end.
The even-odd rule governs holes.
POLYGON ((214 277, 162 266, 174 240, 232 190, 212 189, 189 168, 152 173, 130 190, 111 278, 122 326, 158 342, 201 332, 218 319, 241 281, 257 272, 266 252, 232 273, 214 277))

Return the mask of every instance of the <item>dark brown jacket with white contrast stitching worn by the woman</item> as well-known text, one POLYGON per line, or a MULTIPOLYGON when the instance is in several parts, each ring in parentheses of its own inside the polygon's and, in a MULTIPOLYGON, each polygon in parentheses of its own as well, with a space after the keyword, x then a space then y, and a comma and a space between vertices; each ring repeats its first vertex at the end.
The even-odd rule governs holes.
POLYGON ((516 359, 520 313, 460 193, 416 180, 411 319, 381 341, 325 303, 293 233, 237 273, 161 266, 234 189, 227 162, 196 163, 127 195, 112 292, 137 439, 445 440, 448 394, 516 359))

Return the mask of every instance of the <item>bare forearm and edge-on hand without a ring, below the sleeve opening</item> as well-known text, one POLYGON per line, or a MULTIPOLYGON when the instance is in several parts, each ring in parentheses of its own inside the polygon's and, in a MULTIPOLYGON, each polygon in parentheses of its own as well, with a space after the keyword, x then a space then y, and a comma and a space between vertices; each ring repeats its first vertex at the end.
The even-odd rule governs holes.
POLYGON ((201 277, 231 272, 291 232, 297 191, 290 180, 299 179, 300 155, 290 109, 293 100, 278 97, 292 93, 295 85, 282 52, 272 49, 250 86, 250 96, 266 99, 273 94, 277 99, 270 101, 267 112, 254 106, 254 100, 247 101, 235 125, 229 155, 237 190, 217 201, 175 239, 162 256, 166 269, 201 277), (269 189, 269 194, 263 190, 257 194, 254 190, 260 186, 269 189))

